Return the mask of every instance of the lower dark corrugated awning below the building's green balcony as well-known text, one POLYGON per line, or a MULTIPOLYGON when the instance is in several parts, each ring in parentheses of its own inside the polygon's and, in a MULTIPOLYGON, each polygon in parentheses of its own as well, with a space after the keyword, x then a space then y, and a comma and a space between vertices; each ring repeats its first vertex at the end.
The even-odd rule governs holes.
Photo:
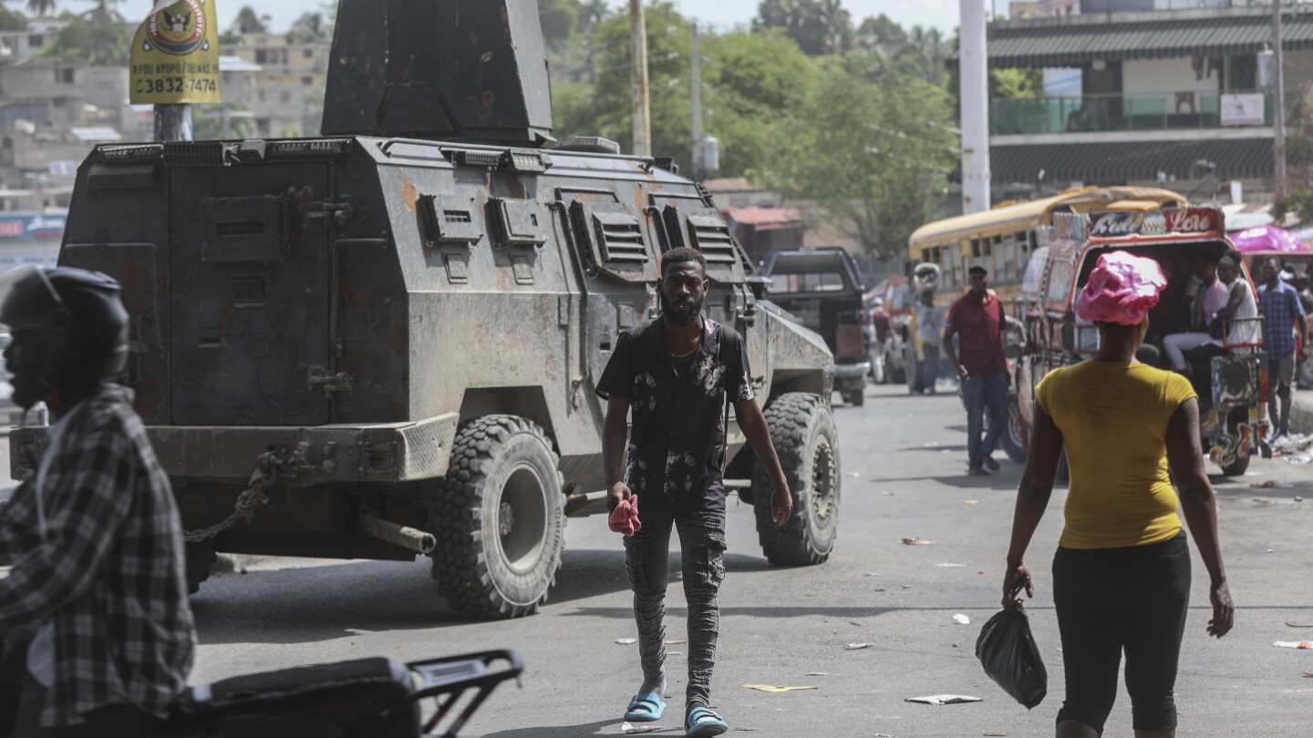
POLYGON ((1154 181, 1159 172, 1192 180, 1200 176, 1196 165, 1200 159, 1216 164, 1221 180, 1271 177, 1274 168, 1271 138, 991 146, 989 156, 995 183, 1043 181, 1054 186, 1071 181, 1100 185, 1154 181))

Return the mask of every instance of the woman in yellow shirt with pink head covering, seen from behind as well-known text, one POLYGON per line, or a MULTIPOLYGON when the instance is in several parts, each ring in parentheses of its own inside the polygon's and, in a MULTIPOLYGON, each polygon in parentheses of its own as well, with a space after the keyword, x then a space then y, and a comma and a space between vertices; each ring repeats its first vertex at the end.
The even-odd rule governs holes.
MULTIPOLYGON (((1136 361, 1145 314, 1166 286, 1152 259, 1107 253, 1077 301, 1099 328, 1092 360, 1050 372, 1036 387, 1031 453, 1016 496, 1003 607, 1031 576, 1022 561, 1044 516, 1066 444, 1071 486, 1053 557, 1053 603, 1062 636, 1066 700, 1058 738, 1096 738, 1112 710, 1127 654, 1136 738, 1174 737, 1173 689, 1190 600, 1190 550, 1176 516, 1190 523, 1209 576, 1222 637, 1234 608, 1226 590, 1213 488, 1199 441, 1199 401, 1190 382, 1136 361), (1173 490, 1169 462, 1176 479, 1173 490)), ((1035 595, 1027 584, 1025 594, 1035 595)), ((1018 600, 1019 601, 1019 600, 1018 600)))

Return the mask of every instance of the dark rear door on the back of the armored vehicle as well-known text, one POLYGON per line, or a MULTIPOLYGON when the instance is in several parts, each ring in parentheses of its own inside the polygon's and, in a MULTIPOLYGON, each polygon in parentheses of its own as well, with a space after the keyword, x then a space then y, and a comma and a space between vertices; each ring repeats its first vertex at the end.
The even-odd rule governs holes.
POLYGON ((326 164, 172 169, 175 424, 328 422, 327 192, 326 164))

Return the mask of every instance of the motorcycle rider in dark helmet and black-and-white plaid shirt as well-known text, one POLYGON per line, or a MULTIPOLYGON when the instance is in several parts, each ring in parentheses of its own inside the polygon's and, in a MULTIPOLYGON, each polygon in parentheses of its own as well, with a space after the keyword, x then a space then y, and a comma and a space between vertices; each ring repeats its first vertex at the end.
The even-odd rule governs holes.
POLYGON ((46 402, 49 443, 0 510, 0 734, 151 733, 186 685, 196 628, 168 477, 114 383, 127 313, 112 278, 0 277, 13 401, 46 402))

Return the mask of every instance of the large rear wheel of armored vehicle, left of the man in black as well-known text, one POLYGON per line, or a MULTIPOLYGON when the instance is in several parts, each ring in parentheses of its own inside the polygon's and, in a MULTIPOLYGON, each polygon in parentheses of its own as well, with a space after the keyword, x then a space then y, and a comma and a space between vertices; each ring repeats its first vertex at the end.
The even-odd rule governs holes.
POLYGON ((533 615, 561 569, 565 524, 557 454, 542 429, 513 415, 466 423, 428 499, 439 591, 469 616, 533 615))

